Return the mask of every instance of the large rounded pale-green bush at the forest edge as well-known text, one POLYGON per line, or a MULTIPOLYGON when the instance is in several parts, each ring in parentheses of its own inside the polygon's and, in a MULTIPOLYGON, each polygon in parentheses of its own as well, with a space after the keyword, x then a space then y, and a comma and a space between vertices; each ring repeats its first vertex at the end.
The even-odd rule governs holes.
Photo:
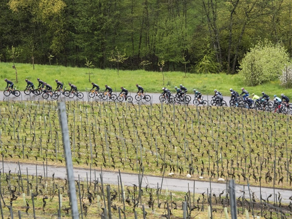
POLYGON ((247 85, 260 85, 277 79, 288 61, 282 43, 259 41, 240 62, 239 76, 247 85))

